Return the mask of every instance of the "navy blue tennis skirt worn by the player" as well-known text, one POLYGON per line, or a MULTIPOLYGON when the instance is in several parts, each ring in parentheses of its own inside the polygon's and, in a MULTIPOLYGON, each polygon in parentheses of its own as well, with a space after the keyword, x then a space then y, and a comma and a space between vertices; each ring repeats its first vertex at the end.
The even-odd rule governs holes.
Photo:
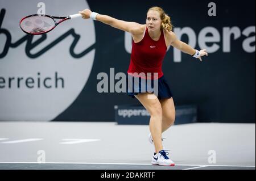
POLYGON ((154 92, 158 99, 172 98, 172 92, 164 76, 156 80, 146 80, 127 75, 127 94, 132 98, 142 92, 154 92))

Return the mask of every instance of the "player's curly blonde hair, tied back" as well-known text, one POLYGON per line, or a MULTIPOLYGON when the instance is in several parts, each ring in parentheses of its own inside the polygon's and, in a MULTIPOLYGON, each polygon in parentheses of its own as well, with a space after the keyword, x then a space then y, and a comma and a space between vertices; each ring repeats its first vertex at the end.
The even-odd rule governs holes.
MULTIPOLYGON (((172 28, 174 27, 171 23, 171 18, 170 16, 168 16, 166 14, 166 12, 164 12, 164 10, 161 8, 161 7, 158 7, 158 6, 154 6, 154 7, 151 7, 148 11, 151 11, 151 10, 154 10, 154 11, 158 11, 159 14, 160 14, 160 19, 162 20, 162 24, 161 24, 161 28, 162 29, 165 29, 167 31, 172 31, 172 28)), ((148 12, 147 11, 147 12, 148 12)))

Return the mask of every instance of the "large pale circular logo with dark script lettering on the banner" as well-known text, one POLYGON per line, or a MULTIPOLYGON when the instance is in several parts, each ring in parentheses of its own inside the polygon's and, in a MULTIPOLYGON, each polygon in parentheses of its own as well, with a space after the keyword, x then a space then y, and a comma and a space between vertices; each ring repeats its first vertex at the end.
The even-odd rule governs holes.
POLYGON ((26 35, 19 20, 68 16, 89 9, 84 0, 0 0, 0 121, 50 121, 84 88, 94 61, 93 20, 67 20, 45 35, 26 35), (43 5, 43 6, 42 6, 43 5))

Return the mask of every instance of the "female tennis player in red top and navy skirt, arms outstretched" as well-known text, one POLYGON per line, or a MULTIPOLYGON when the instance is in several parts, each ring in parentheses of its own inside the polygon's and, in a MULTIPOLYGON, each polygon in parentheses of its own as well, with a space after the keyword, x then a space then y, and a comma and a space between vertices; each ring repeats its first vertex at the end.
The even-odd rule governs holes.
POLYGON ((164 150, 162 144, 162 133, 170 128, 175 120, 174 100, 170 87, 163 76, 162 62, 167 47, 170 45, 195 58, 199 58, 200 61, 202 61, 202 56, 208 56, 207 51, 205 49, 200 51, 193 49, 188 44, 178 40, 175 33, 172 32, 170 16, 160 7, 151 7, 148 10, 146 24, 125 22, 88 9, 79 13, 84 19, 91 18, 131 33, 133 48, 127 73, 130 77, 139 77, 139 89, 128 92, 128 94, 136 97, 150 113, 151 134, 148 138, 155 147, 155 153, 151 161, 152 165, 174 166, 175 163, 167 156, 168 152, 164 150), (154 90, 158 88, 157 95, 148 91, 147 86, 146 91, 142 91, 141 87, 145 86, 145 81, 142 81, 144 79, 157 81, 158 85, 154 87, 154 90))

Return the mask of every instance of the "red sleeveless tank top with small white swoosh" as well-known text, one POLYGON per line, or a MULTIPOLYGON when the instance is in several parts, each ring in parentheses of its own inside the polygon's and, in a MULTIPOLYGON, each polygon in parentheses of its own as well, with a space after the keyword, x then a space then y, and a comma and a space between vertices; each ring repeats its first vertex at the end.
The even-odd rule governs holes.
POLYGON ((133 40, 130 65, 127 73, 134 77, 159 79, 163 76, 162 65, 166 50, 167 47, 166 41, 164 40, 164 32, 161 32, 158 41, 154 41, 148 34, 146 27, 143 39, 138 43, 134 43, 133 40), (147 73, 151 73, 151 77, 148 77, 147 73), (154 76, 154 73, 158 73, 158 77, 154 76), (144 75, 146 75, 146 77, 144 75))

